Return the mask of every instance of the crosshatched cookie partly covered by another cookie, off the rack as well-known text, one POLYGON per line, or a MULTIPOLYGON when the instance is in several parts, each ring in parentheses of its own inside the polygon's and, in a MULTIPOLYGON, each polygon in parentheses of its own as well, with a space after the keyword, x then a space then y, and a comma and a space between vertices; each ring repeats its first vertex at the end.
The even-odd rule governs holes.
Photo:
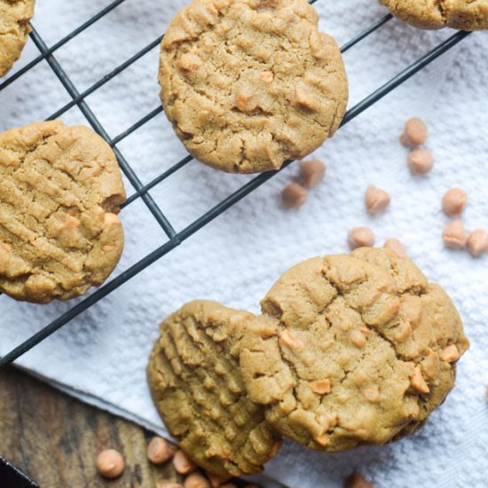
POLYGON ((240 338, 253 317, 215 302, 187 303, 161 324, 147 368, 169 432, 214 475, 258 473, 280 445, 240 377, 240 338))

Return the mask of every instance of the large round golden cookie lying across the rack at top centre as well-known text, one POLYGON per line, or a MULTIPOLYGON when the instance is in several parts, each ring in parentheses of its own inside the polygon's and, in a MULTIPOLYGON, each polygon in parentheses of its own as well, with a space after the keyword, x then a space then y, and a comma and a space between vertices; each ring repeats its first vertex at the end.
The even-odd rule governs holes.
POLYGON ((348 98, 341 52, 306 0, 193 0, 162 40, 159 81, 188 151, 233 173, 311 153, 348 98))

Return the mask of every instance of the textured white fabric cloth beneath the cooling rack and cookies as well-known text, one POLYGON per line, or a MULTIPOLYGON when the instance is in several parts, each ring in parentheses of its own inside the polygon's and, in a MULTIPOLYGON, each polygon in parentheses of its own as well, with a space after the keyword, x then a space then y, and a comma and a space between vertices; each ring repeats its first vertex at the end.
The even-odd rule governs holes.
MULTIPOLYGON (((35 27, 55 43, 108 0, 39 0, 35 27)), ((160 35, 185 0, 127 0, 104 20, 56 52, 83 91, 160 35)), ((374 0, 319 0, 320 23, 339 43, 386 12, 374 0)), ((453 31, 415 30, 392 20, 345 56, 350 106, 387 82, 453 31)), ((32 42, 16 69, 37 54, 32 42)), ((87 103, 112 137, 159 105, 158 50, 106 84, 87 103)), ((488 33, 468 36, 390 96, 341 129, 318 151, 327 161, 327 182, 311 192, 299 211, 279 207, 279 192, 296 177, 296 165, 241 201, 169 256, 21 358, 19 364, 95 405, 160 429, 145 377, 157 325, 185 301, 210 298, 258 310, 273 281, 304 258, 346 250, 350 227, 366 224, 377 240, 395 236, 429 276, 453 296, 465 321, 471 349, 459 365, 458 385, 428 425, 394 445, 327 455, 287 443, 268 474, 301 488, 341 486, 358 468, 379 487, 486 486, 488 411, 488 258, 443 247, 448 221, 442 195, 460 185, 468 192, 468 229, 488 228, 488 33), (429 123, 436 168, 412 177, 405 148, 397 142, 405 119, 429 123), (390 210, 370 217, 366 185, 387 189, 390 210)), ((46 63, 0 93, 0 129, 42 120, 69 100, 46 63)), ((63 116, 83 122, 77 108, 63 116)), ((139 177, 148 182, 185 151, 163 114, 120 145, 139 177)), ((192 162, 152 194, 177 230, 240 187, 248 177, 229 176, 192 162)), ((133 189, 128 185, 128 193, 133 189)), ((141 201, 122 219, 127 248, 117 273, 167 238, 141 201)), ((79 300, 35 306, 0 297, 0 354, 26 339, 79 300)), ((67 419, 69 421, 69 419, 67 419)))

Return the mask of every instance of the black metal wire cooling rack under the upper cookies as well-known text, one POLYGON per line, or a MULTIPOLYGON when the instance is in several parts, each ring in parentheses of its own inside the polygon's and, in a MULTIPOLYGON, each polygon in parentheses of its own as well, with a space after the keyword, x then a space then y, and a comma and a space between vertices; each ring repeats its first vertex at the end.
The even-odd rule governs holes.
MULTIPOLYGON (((40 54, 35 59, 30 61, 28 65, 22 67, 18 72, 10 76, 10 78, 8 78, 3 83, 1 83, 0 91, 3 91, 7 86, 11 85, 21 76, 28 73, 28 71, 35 67, 37 64, 41 62, 47 62, 48 65, 51 67, 51 70, 58 77, 59 82, 64 86, 69 96, 72 98, 71 101, 67 103, 67 105, 59 108, 59 110, 55 114, 52 114, 51 117, 49 117, 49 119, 47 120, 56 119, 62 114, 65 114, 70 108, 78 106, 84 117, 86 118, 87 122, 90 123, 93 130, 96 130, 98 134, 102 138, 104 138, 110 146, 112 146, 123 173, 129 179, 131 185, 136 189, 136 192, 130 195, 128 200, 122 205, 122 209, 130 205, 133 201, 142 199, 142 201, 144 201, 144 203, 146 204, 146 208, 153 214, 153 217, 156 219, 158 224, 161 225, 162 230, 169 237, 169 240, 160 248, 157 248, 151 254, 141 259, 137 264, 134 264, 129 269, 122 272, 122 274, 106 283, 105 286, 100 287, 94 294, 86 297, 83 302, 77 303, 72 309, 60 315, 58 319, 53 320, 51 324, 43 327, 43 329, 41 329, 35 335, 29 337, 27 341, 22 342, 15 349, 5 354, 3 358, 0 358, 0 367, 11 364, 13 361, 15 361, 15 359, 20 358, 22 354, 34 348, 37 344, 42 342, 51 334, 55 333, 59 328, 66 326, 71 320, 75 319, 75 317, 83 313, 83 311, 89 309, 91 305, 98 303, 106 295, 111 294, 118 287, 121 287, 124 283, 134 278, 139 272, 142 272, 148 266, 160 259, 162 256, 167 255, 173 249, 177 248, 182 242, 190 238, 195 232, 198 232, 202 227, 209 224, 217 216, 223 214, 227 209, 230 209, 238 201, 242 200, 249 193, 252 193, 254 190, 256 190, 256 188, 263 185, 266 181, 274 177, 279 172, 272 171, 255 177, 253 180, 248 182, 248 184, 243 185, 235 193, 232 193, 229 197, 218 203, 213 209, 210 209, 207 213, 201 215, 192 224, 188 225, 184 230, 182 230, 181 232, 175 231, 168 218, 162 213, 161 209, 158 207, 155 201, 153 201, 153 198, 148 192, 154 186, 159 185, 166 178, 170 177, 171 175, 176 173, 177 170, 182 169, 186 164, 192 161, 192 156, 188 155, 181 161, 177 161, 174 166, 161 173, 161 175, 159 175, 158 177, 155 177, 153 181, 151 181, 147 185, 143 185, 137 173, 134 171, 134 169, 130 167, 129 162, 125 159, 121 151, 117 148, 117 145, 124 138, 127 138, 130 134, 141 128, 144 124, 146 124, 146 122, 149 122, 156 115, 161 114, 161 106, 155 108, 151 113, 140 119, 129 129, 124 130, 116 138, 110 138, 103 125, 98 122, 97 117, 95 116, 95 114, 93 114, 90 106, 88 106, 85 101, 85 98, 91 95, 91 93, 93 93, 94 91, 98 91, 98 89, 100 89, 103 85, 108 83, 115 76, 121 74, 122 71, 130 67, 138 59, 142 58, 147 52, 153 49, 157 49, 157 46, 159 45, 159 43, 161 43, 162 36, 154 39, 152 43, 149 43, 144 49, 138 51, 138 53, 134 54, 134 56, 132 56, 130 59, 127 59, 125 62, 123 62, 122 65, 116 67, 112 72, 108 73, 103 78, 98 80, 97 83, 94 83, 88 90, 83 91, 83 93, 80 93, 76 90, 75 84, 70 80, 63 67, 61 67, 59 62, 54 57, 55 51, 58 51, 59 48, 72 41, 76 37, 76 35, 79 35, 85 29, 90 28, 93 24, 98 22, 98 20, 105 17, 108 13, 114 11, 116 7, 126 1, 127 0, 115 0, 112 4, 107 5, 106 8, 91 17, 91 19, 84 22, 78 28, 75 28, 73 32, 63 37, 58 43, 55 43, 51 47, 48 47, 46 43, 44 43, 41 35, 38 34, 33 26, 31 26, 32 32, 30 33, 30 36, 32 41, 35 43, 37 49, 40 51, 40 54)), ((311 4, 315 4, 316 2, 317 0, 310 1, 311 4)), ((389 14, 382 17, 382 19, 374 22, 374 24, 372 24, 369 28, 366 28, 366 30, 359 33, 354 38, 350 39, 348 43, 345 43, 341 48, 342 53, 350 50, 350 48, 365 39, 368 35, 372 34, 378 28, 381 28, 391 19, 392 17, 389 14)), ((359 114, 363 113, 368 107, 374 105, 374 103, 376 103, 378 100, 388 95, 390 91, 395 90, 397 86, 405 83, 406 80, 415 75, 415 73, 420 71, 423 67, 426 67, 434 59, 437 59, 443 53, 452 49, 453 46, 455 46, 457 43, 460 43, 460 41, 464 39, 467 35, 469 35, 468 32, 457 32, 456 34, 446 39, 443 43, 437 45, 435 49, 429 51, 420 59, 417 59, 412 65, 406 67, 404 71, 394 76, 388 83, 385 83, 378 90, 374 91, 371 95, 364 98, 361 102, 358 103, 358 105, 353 106, 345 115, 344 120, 342 121, 342 125, 350 122, 359 114)), ((282 169, 286 168, 291 162, 293 161, 287 161, 283 165, 282 169)))

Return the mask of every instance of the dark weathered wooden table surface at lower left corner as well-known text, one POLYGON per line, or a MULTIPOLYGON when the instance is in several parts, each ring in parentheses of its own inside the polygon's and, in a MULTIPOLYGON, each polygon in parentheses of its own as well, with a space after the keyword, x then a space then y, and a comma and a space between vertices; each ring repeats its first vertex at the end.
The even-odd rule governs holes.
POLYGON ((151 437, 19 370, 0 371, 0 455, 42 488, 152 488, 179 480, 171 463, 154 467, 147 461, 151 437), (118 450, 126 460, 116 481, 103 480, 95 468, 97 454, 106 448, 118 450))

